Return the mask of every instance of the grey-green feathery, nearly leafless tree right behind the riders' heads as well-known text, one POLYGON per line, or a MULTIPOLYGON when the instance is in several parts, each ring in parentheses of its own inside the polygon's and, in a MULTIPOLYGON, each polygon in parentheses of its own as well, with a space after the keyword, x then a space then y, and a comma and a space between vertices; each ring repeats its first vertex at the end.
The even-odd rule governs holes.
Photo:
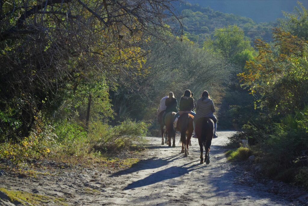
POLYGON ((198 48, 185 38, 180 41, 168 35, 168 41, 151 39, 147 45, 151 51, 145 66, 150 67, 145 78, 137 77, 133 90, 120 86, 110 92, 115 121, 133 118, 153 120, 160 99, 172 91, 176 98, 190 89, 198 99, 204 90, 209 90, 215 103, 220 102, 220 86, 229 78, 232 65, 221 58, 198 48))

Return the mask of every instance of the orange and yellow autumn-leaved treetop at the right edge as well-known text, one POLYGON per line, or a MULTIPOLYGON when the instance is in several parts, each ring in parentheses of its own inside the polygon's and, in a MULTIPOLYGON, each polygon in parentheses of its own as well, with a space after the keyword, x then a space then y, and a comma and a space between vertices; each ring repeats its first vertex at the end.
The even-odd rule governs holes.
POLYGON ((274 53, 270 44, 257 39, 258 57, 248 61, 238 76, 255 97, 256 107, 281 117, 308 103, 308 41, 281 29, 275 29, 273 38, 279 52, 274 53))

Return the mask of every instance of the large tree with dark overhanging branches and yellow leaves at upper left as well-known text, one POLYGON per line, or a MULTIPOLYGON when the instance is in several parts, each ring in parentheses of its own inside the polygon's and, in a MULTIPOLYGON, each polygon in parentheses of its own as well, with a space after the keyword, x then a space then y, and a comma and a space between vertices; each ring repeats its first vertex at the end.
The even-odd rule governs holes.
POLYGON ((27 136, 82 79, 112 87, 115 75, 144 73, 139 46, 178 19, 171 8, 172 0, 0 1, 0 135, 27 136))

